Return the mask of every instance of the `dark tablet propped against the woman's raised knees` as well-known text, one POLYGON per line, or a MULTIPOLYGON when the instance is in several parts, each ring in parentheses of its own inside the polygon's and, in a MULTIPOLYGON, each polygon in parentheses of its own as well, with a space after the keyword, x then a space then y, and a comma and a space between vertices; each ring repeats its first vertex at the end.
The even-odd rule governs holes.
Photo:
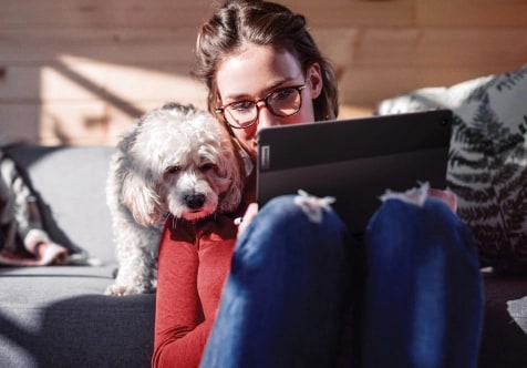
POLYGON ((386 190, 446 187, 450 110, 264 127, 257 202, 296 194, 335 197, 352 233, 363 233, 386 190))

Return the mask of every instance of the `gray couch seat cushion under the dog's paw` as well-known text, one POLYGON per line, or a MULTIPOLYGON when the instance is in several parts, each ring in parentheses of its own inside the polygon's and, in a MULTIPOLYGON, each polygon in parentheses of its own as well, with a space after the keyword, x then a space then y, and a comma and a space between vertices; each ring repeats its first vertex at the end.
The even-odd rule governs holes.
POLYGON ((0 268, 0 366, 149 367, 155 296, 103 295, 112 272, 0 268))

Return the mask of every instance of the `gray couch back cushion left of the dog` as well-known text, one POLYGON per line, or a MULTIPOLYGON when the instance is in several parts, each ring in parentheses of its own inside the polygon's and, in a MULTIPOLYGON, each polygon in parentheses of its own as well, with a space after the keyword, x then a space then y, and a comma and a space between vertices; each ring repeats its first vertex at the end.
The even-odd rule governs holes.
POLYGON ((44 205, 50 236, 103 262, 115 259, 106 205, 107 146, 14 145, 8 153, 29 174, 44 205))

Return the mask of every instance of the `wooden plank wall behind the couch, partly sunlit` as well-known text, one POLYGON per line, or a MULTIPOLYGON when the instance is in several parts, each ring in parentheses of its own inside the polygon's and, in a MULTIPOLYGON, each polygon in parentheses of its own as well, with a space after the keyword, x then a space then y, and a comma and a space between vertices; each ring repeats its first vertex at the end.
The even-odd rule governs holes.
MULTIPOLYGON (((526 0, 283 0, 334 63, 343 116, 527 61, 526 0)), ((145 110, 204 108, 192 80, 205 0, 0 0, 0 134, 114 144, 145 110)))

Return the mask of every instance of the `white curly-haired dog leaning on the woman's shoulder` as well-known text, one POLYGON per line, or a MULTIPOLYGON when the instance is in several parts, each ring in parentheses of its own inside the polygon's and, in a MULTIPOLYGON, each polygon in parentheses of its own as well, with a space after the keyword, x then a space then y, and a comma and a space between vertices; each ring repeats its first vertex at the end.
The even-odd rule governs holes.
POLYGON ((118 270, 106 295, 155 292, 157 247, 168 213, 198 221, 241 202, 242 161, 227 129, 193 105, 143 115, 117 145, 107 182, 118 270))

